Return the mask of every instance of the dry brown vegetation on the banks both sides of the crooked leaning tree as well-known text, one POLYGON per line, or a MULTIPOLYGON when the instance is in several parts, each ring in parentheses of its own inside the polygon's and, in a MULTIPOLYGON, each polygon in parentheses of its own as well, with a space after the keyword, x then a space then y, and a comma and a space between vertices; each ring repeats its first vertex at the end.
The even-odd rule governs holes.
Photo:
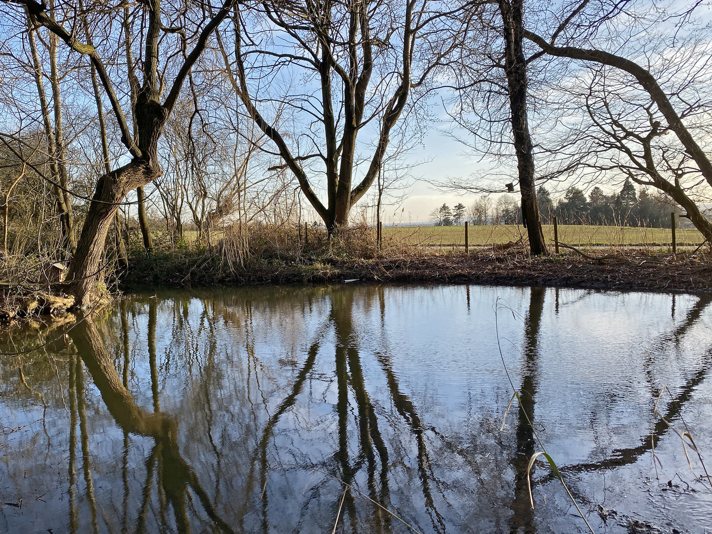
MULTIPOLYGON (((667 247, 639 245, 582 248, 582 253, 562 248, 560 254, 533 257, 525 239, 465 253, 454 246, 413 245, 409 235, 392 233, 386 234, 379 249, 375 230, 365 225, 340 229, 331 241, 323 229, 311 227, 307 242, 303 229, 298 233, 295 227, 268 225, 251 228, 247 246, 229 233, 211 246, 160 246, 159 234, 155 241, 158 246, 152 256, 146 256, 140 246, 134 249, 128 271, 112 263, 108 252, 106 269, 115 292, 344 281, 712 290, 712 256, 706 247, 677 254, 667 247)), ((0 319, 62 312, 70 307, 62 295, 64 284, 51 281, 51 261, 18 255, 4 263, 0 319)))

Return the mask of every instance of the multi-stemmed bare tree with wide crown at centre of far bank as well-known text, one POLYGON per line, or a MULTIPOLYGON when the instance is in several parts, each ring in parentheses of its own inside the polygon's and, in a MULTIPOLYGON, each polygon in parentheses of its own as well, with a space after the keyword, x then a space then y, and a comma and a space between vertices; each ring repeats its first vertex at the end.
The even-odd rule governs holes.
POLYGON ((329 231, 347 224, 351 206, 377 179, 411 91, 425 88, 461 41, 459 11, 428 0, 420 9, 413 0, 298 1, 288 10, 265 1, 247 13, 236 9, 234 51, 221 43, 235 90, 329 231), (289 85, 281 92, 270 84, 289 85), (268 115, 275 100, 288 104, 293 131, 268 115), (375 130, 369 157, 357 142, 364 130, 375 130), (315 191, 318 176, 326 203, 315 191))

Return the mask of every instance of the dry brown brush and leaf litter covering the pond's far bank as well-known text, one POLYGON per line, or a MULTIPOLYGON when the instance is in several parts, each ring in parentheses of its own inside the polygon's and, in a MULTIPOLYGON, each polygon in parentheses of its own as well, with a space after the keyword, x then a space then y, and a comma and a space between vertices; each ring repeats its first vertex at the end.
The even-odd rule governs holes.
POLYGON ((712 290, 712 257, 706 248, 672 254, 660 248, 595 248, 587 258, 562 253, 535 258, 525 242, 496 247, 412 246, 406 239, 384 239, 379 251, 367 226, 342 230, 331 245, 324 231, 310 230, 309 244, 296 231, 253 232, 242 261, 225 242, 211 250, 135 256, 125 288, 256 284, 486 283, 551 285, 601 289, 712 290), (604 258, 602 258, 604 256, 604 258), (591 259, 593 258, 593 259, 591 259), (596 259, 601 258, 601 259, 596 259))

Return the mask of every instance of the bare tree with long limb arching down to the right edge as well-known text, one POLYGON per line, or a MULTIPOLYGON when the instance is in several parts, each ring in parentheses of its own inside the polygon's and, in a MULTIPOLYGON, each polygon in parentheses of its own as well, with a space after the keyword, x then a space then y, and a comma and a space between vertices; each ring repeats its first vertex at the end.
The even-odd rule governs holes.
POLYGON ((656 6, 627 12, 626 2, 602 10, 584 0, 567 17, 569 32, 557 29, 544 38, 525 30, 524 35, 540 55, 567 61, 559 94, 573 93, 585 110, 578 121, 566 123, 572 137, 560 143, 572 158, 563 164, 567 172, 580 166, 619 172, 656 187, 711 239, 712 225, 695 201, 701 184, 707 198, 712 186, 712 161, 701 144, 712 126, 712 51, 708 27, 690 23, 698 5, 672 13, 656 6), (617 23, 607 25, 608 19, 617 23), (650 36, 644 46, 630 37, 631 28, 650 36), (616 53, 607 51, 609 46, 616 53), (580 85, 583 90, 577 90, 580 85), (666 136, 669 132, 675 137, 666 136))

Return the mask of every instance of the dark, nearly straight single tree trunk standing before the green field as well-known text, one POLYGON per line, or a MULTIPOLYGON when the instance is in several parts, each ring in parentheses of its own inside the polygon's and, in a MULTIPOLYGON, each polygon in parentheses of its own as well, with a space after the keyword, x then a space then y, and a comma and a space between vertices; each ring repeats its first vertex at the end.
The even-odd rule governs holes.
POLYGON ((527 117, 527 66, 522 50, 522 0, 499 0, 499 9, 506 43, 505 71, 522 197, 522 217, 529 237, 529 249, 534 256, 540 256, 546 254, 547 250, 536 198, 533 145, 527 117))

